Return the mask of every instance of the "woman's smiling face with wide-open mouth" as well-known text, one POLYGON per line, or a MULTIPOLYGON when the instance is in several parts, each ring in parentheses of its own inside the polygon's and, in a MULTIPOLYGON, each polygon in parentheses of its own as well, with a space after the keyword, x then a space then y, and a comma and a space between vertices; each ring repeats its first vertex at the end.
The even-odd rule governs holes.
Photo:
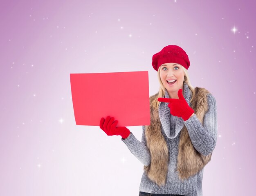
POLYGON ((164 63, 159 69, 161 81, 168 91, 169 97, 178 98, 179 89, 182 89, 183 94, 184 71, 182 65, 174 62, 164 63), (173 80, 175 81, 172 82, 173 80))

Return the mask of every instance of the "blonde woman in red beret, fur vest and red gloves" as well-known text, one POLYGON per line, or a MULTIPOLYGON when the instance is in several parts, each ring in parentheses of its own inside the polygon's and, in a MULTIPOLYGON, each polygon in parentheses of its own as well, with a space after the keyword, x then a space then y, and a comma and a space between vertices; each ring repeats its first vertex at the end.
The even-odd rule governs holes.
POLYGON ((101 118, 100 128, 121 140, 141 163, 139 196, 202 196, 203 168, 217 139, 216 100, 204 88, 193 88, 189 57, 168 45, 153 55, 159 92, 150 96, 150 125, 142 126, 141 142, 117 120, 101 118))

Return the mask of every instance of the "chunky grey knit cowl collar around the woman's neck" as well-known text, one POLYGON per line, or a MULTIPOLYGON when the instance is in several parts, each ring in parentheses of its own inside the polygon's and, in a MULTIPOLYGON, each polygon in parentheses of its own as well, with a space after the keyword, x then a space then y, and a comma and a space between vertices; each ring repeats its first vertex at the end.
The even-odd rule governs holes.
MULTIPOLYGON (((190 106, 189 100, 191 97, 191 93, 189 90, 189 86, 186 83, 184 83, 184 85, 183 85, 182 94, 183 94, 186 102, 190 106)), ((169 98, 169 94, 166 89, 165 89, 164 97, 169 98)), ((173 116, 170 114, 170 108, 168 107, 168 104, 169 103, 167 103, 167 102, 161 102, 159 104, 159 108, 158 108, 159 119, 161 121, 161 124, 162 124, 162 127, 164 129, 166 136, 168 136, 168 138, 175 138, 179 134, 182 127, 184 127, 185 122, 182 118, 179 118, 177 116, 173 116), (172 130, 171 130, 171 119, 176 121, 175 128, 173 127, 172 130)))

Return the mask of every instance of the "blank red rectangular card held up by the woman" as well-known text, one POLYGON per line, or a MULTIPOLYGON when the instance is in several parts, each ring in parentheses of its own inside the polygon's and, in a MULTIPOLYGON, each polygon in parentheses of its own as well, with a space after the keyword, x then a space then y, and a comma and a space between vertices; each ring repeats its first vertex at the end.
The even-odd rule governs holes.
POLYGON ((70 73, 70 83, 76 125, 107 116, 117 127, 150 125, 148 71, 70 73))

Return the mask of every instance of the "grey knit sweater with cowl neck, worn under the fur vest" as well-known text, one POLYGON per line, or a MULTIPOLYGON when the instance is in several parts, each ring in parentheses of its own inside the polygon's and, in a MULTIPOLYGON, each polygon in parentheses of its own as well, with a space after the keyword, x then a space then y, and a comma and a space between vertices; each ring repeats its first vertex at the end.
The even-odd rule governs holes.
MULTIPOLYGON (((183 87, 184 98, 189 104, 191 93, 189 87, 184 83, 183 87)), ((168 92, 165 91, 165 97, 169 98, 168 92)), ((168 103, 161 102, 159 104, 159 118, 161 121, 161 131, 166 140, 169 152, 168 173, 166 176, 166 184, 159 187, 151 181, 144 171, 139 191, 154 194, 180 194, 186 196, 202 196, 202 178, 203 170, 199 171, 194 176, 189 177, 182 182, 177 174, 176 164, 178 155, 178 144, 180 141, 180 130, 185 125, 191 142, 195 149, 201 154, 207 156, 211 154, 216 145, 217 140, 217 114, 216 100, 212 94, 208 94, 208 111, 205 113, 203 125, 194 114, 191 118, 184 121, 182 118, 170 114, 168 103)), ((130 133, 130 135, 121 140, 127 145, 132 154, 141 161, 144 165, 150 164, 150 152, 146 146, 145 126, 142 126, 141 142, 130 133)))

